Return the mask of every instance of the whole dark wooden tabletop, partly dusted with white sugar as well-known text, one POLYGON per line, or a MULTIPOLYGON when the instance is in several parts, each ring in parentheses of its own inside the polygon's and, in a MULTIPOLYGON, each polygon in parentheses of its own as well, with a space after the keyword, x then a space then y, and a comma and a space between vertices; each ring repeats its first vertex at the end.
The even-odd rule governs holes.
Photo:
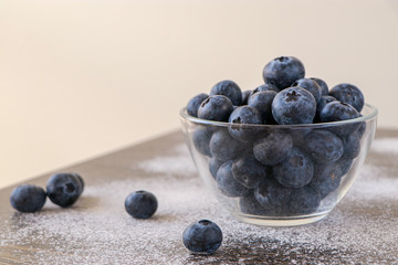
MULTIPOLYGON (((376 138, 398 139, 398 130, 379 129, 376 138)), ((398 201, 395 194, 387 194, 383 200, 369 198, 367 203, 360 203, 354 197, 348 200, 343 199, 325 220, 298 227, 275 229, 243 224, 233 220, 220 209, 218 203, 208 208, 200 198, 197 199, 199 210, 188 208, 184 210, 185 202, 181 201, 178 205, 159 206, 158 216, 147 222, 130 221, 129 216, 123 213, 124 198, 127 195, 123 183, 132 186, 132 191, 139 184, 158 189, 160 193, 158 199, 164 195, 165 201, 174 201, 171 200, 174 191, 169 189, 180 189, 186 184, 188 193, 181 197, 181 200, 187 200, 186 205, 190 205, 189 193, 203 190, 203 193, 199 194, 207 194, 196 172, 186 170, 190 166, 177 168, 178 159, 180 163, 188 161, 184 160, 185 158, 190 159, 187 150, 176 151, 175 147, 182 145, 182 134, 176 131, 56 170, 56 172, 78 172, 86 182, 86 190, 80 201, 64 212, 61 212, 63 209, 51 205, 48 201, 39 213, 18 213, 9 203, 9 195, 17 186, 0 190, 0 264, 398 264, 398 201), (179 152, 177 157, 176 152, 179 152), (167 160, 168 158, 170 160, 167 160), (158 161, 166 168, 151 169, 154 163, 150 161, 158 161), (167 170, 168 163, 170 170, 167 170), (176 186, 177 182, 179 186, 176 186), (116 191, 118 189, 122 193, 118 199, 108 199, 111 202, 121 201, 119 209, 109 206, 109 222, 106 222, 107 227, 114 229, 114 236, 109 235, 112 244, 104 243, 103 235, 112 229, 101 231, 98 241, 92 236, 93 231, 90 230, 90 226, 98 227, 100 222, 107 220, 97 215, 101 212, 106 213, 107 205, 98 202, 103 202, 101 192, 107 183, 113 183, 113 188, 109 189, 116 191), (84 230, 78 226, 77 231, 87 233, 82 237, 78 237, 80 232, 73 231, 71 226, 73 219, 67 215, 76 213, 78 213, 75 215, 76 224, 87 226, 84 230), (100 218, 95 219, 95 216, 100 218), (224 231, 222 246, 210 256, 190 254, 180 240, 186 223, 201 216, 217 221, 224 231), (40 226, 41 222, 46 225, 67 222, 65 230, 71 230, 73 236, 67 237, 67 231, 61 231, 63 225, 57 226, 61 227, 57 234, 52 227, 40 226), (121 222, 124 224, 119 224, 121 222), (124 236, 129 233, 130 237, 124 236), (326 233, 329 242, 321 242, 317 237, 326 233), (145 235, 150 239, 146 239, 145 235), (377 246, 370 247, 371 245, 377 246)), ((373 169, 379 168, 380 170, 375 174, 385 174, 381 177, 387 180, 387 184, 388 179, 391 179, 391 186, 395 186, 396 182, 392 180, 398 178, 397 153, 398 151, 394 153, 370 151, 365 163, 370 165, 373 169)), ((25 182, 45 187, 51 174, 25 182)), ((375 178, 381 177, 375 176, 375 178)), ((362 181, 360 176, 357 181, 362 181)), ((398 187, 392 187, 392 190, 395 188, 398 193, 398 187)), ((347 197, 349 195, 350 193, 347 197)), ((212 203, 213 200, 210 198, 205 201, 212 203)), ((159 200, 159 205, 161 203, 159 200)), ((196 201, 191 203, 196 205, 196 201)))

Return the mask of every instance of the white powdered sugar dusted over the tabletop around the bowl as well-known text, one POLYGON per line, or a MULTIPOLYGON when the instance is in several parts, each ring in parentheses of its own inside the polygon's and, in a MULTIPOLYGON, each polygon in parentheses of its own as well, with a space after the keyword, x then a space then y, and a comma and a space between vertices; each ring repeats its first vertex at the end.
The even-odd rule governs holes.
POLYGON ((397 233, 385 230, 398 231, 397 211, 391 211, 398 182, 375 165, 360 170, 353 189, 325 220, 262 227, 231 218, 193 176, 192 163, 182 160, 188 151, 178 148, 176 155, 136 165, 150 178, 87 186, 71 209, 48 202, 39 213, 0 215, 10 226, 1 231, 0 253, 17 245, 15 255, 34 264, 371 264, 379 256, 388 257, 385 263, 398 261, 397 233), (180 174, 187 177, 174 178, 180 174), (125 212, 126 195, 137 189, 157 195, 153 219, 134 220, 125 212), (352 212, 352 205, 359 210, 352 212), (223 231, 224 242, 213 255, 192 255, 182 245, 184 229, 199 219, 210 219, 223 231), (25 248, 32 244, 34 250, 25 248))

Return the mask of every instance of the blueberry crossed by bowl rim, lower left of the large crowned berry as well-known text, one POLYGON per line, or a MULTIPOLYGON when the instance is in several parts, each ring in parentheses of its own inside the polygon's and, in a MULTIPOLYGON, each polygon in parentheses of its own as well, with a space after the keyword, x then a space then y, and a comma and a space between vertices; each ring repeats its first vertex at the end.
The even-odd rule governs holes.
POLYGON ((240 141, 251 141, 255 137, 256 128, 245 126, 248 124, 261 124, 262 117, 260 112, 251 106, 240 106, 229 117, 232 124, 228 129, 230 135, 240 141))

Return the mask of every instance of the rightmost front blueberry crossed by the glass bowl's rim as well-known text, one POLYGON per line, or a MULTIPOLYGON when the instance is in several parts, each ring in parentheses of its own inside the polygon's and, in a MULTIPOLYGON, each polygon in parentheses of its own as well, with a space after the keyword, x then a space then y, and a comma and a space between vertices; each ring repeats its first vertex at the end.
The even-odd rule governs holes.
MULTIPOLYGON (((326 106, 321 110, 320 114, 321 121, 323 123, 347 120, 358 117, 359 114, 353 106, 341 102, 331 102, 326 104, 326 106)), ((349 135, 353 131, 357 130, 359 126, 360 123, 343 124, 333 127, 331 126, 328 130, 333 131, 338 136, 349 135)))

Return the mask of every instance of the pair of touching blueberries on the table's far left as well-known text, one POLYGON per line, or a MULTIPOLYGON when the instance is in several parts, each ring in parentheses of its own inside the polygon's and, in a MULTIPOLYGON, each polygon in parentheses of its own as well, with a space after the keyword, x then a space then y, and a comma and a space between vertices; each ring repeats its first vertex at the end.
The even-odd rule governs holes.
POLYGON ((11 205, 20 212, 40 211, 46 198, 62 208, 73 205, 84 189, 83 178, 77 173, 53 174, 48 183, 46 191, 39 186, 22 184, 17 187, 11 195, 11 205))

